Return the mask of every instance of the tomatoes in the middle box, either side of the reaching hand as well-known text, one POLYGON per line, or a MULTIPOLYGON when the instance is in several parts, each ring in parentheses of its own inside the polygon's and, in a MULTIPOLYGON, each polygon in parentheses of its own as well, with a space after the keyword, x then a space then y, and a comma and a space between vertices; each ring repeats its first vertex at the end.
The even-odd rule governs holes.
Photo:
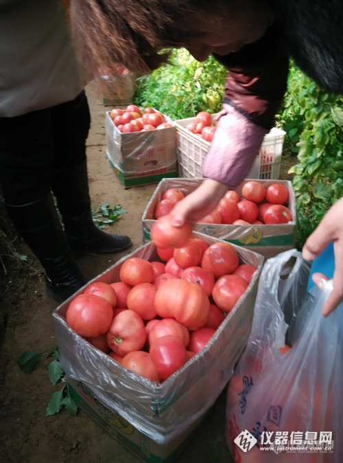
MULTIPOLYGON (((155 218, 170 214, 174 205, 185 197, 178 188, 169 188, 161 195, 154 208, 155 218)), ((198 223, 232 225, 272 225, 292 221, 289 210, 289 191, 281 183, 265 187, 259 181, 244 183, 241 194, 228 190, 215 209, 201 218, 198 223)))

